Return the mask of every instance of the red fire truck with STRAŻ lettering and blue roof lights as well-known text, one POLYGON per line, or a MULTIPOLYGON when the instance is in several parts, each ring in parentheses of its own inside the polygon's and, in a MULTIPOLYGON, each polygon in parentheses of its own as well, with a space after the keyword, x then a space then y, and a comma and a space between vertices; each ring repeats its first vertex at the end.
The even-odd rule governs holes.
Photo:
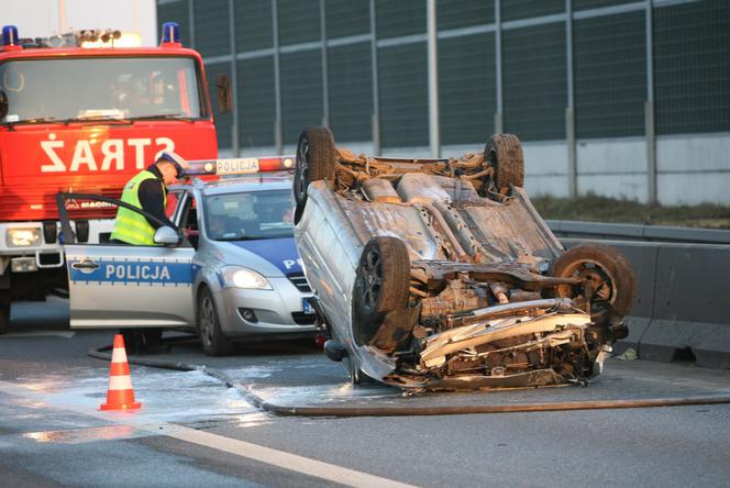
MULTIPOLYGON (((67 287, 57 192, 119 198, 126 180, 163 151, 217 157, 202 59, 181 46, 177 24, 163 31, 157 47, 119 47, 118 32, 20 40, 14 26, 3 27, 0 333, 11 302, 45 300, 67 287)), ((78 240, 108 239, 114 208, 91 201, 67 208, 78 240)))

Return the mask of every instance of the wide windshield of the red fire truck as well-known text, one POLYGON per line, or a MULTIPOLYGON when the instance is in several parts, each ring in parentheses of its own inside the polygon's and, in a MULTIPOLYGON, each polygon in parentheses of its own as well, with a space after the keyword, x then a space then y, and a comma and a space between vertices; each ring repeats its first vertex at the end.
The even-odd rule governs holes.
POLYGON ((68 57, 0 64, 1 123, 199 119, 203 90, 190 57, 68 57))

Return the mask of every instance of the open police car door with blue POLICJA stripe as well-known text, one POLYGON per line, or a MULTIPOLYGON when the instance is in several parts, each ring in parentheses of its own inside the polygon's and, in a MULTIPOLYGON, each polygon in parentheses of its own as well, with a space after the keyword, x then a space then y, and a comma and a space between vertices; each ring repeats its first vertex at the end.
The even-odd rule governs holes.
POLYGON ((62 202, 80 198, 121 203, 96 196, 58 196, 71 329, 191 326, 195 249, 189 245, 78 243, 62 202))

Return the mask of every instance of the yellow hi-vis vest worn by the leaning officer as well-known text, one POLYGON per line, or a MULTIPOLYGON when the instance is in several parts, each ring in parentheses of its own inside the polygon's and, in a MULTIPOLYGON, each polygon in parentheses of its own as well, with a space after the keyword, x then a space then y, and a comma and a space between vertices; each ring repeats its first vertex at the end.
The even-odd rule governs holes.
MULTIPOLYGON (((140 171, 134 178, 129 180, 122 192, 122 201, 142 209, 140 203, 140 185, 147 179, 157 179, 157 177, 146 169, 140 171)), ((163 204, 167 203, 167 190, 163 187, 163 204)), ((111 231, 111 239, 115 239, 128 244, 137 246, 154 246, 155 228, 150 225, 143 214, 134 212, 124 207, 117 209, 117 219, 114 219, 114 229, 111 231)))

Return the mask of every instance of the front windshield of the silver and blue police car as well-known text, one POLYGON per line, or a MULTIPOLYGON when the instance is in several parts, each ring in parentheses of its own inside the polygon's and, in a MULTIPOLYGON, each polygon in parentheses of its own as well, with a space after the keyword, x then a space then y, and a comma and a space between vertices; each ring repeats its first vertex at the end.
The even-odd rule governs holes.
POLYGON ((290 190, 204 197, 206 234, 213 241, 251 241, 294 236, 290 190))

